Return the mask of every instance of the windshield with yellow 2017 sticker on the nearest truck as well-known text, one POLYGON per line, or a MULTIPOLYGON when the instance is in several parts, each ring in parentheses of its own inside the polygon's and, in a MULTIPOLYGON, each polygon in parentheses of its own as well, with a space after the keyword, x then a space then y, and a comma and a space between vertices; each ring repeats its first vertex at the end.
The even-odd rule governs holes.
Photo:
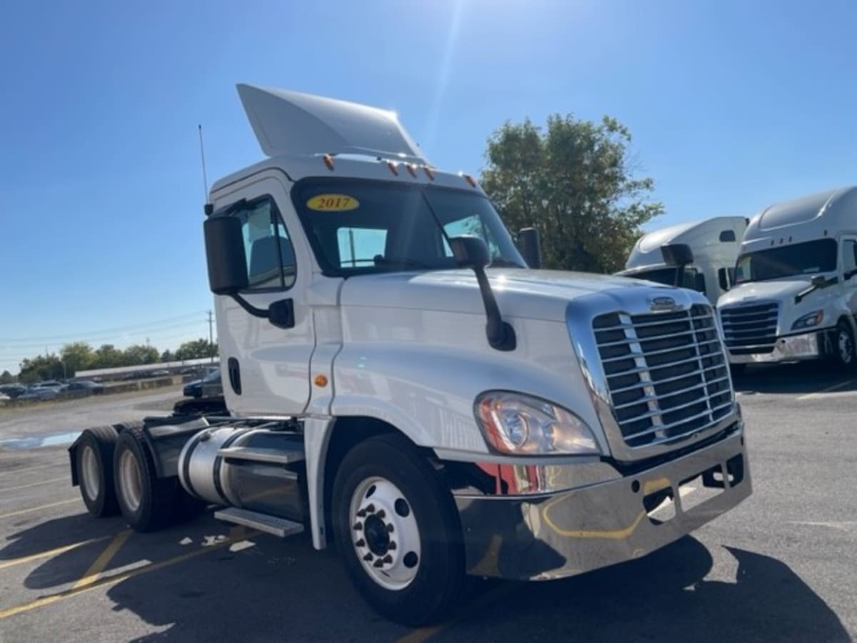
POLYGON ((484 195, 356 179, 308 179, 292 200, 325 274, 458 267, 447 239, 481 237, 494 266, 524 259, 484 195))

